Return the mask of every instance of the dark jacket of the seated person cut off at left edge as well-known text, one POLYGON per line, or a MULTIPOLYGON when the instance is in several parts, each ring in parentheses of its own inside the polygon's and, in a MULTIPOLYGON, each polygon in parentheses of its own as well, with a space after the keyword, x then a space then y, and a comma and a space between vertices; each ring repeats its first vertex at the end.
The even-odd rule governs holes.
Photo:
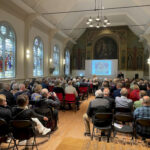
POLYGON ((12 119, 12 113, 9 107, 0 106, 0 118, 4 119, 6 122, 12 119))

